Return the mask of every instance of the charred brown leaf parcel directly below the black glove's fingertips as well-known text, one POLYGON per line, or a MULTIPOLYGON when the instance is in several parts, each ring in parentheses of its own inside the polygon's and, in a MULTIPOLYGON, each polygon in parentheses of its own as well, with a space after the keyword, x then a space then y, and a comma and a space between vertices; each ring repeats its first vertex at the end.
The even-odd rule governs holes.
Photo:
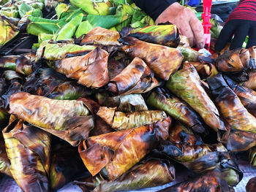
POLYGON ((216 60, 217 69, 220 72, 240 72, 249 66, 249 50, 239 48, 227 50, 216 60))

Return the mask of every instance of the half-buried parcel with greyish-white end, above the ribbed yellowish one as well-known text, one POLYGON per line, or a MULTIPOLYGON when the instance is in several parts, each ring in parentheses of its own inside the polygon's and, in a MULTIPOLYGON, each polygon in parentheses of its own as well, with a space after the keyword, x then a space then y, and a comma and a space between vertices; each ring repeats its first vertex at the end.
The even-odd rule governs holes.
POLYGON ((108 96, 107 94, 97 93, 97 101, 106 107, 117 107, 120 112, 146 111, 148 107, 140 94, 129 94, 126 96, 108 96))

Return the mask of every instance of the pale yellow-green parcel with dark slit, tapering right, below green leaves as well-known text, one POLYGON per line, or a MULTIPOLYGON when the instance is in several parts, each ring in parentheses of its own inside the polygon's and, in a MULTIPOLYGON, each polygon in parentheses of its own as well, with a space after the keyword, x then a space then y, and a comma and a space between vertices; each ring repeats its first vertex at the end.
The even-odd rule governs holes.
POLYGON ((94 50, 91 45, 74 45, 66 42, 51 42, 44 41, 37 49, 36 61, 40 58, 45 58, 50 61, 61 60, 62 58, 73 57, 78 55, 86 55, 94 50))

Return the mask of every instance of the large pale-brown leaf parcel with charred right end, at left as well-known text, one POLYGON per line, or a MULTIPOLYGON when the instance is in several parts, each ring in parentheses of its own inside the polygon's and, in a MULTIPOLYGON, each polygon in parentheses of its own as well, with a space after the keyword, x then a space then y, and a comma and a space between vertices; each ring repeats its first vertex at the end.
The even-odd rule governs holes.
POLYGON ((16 93, 10 99, 10 113, 34 126, 78 145, 89 136, 94 120, 83 101, 48 99, 29 93, 16 93))

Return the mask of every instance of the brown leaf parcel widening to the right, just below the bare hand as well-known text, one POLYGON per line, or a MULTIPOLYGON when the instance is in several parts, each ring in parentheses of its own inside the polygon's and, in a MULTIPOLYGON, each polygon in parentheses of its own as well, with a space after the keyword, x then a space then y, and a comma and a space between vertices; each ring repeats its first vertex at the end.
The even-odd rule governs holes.
POLYGON ((179 50, 140 41, 135 37, 119 39, 122 50, 132 58, 139 57, 153 70, 157 77, 168 80, 170 74, 181 66, 183 55, 179 50))

